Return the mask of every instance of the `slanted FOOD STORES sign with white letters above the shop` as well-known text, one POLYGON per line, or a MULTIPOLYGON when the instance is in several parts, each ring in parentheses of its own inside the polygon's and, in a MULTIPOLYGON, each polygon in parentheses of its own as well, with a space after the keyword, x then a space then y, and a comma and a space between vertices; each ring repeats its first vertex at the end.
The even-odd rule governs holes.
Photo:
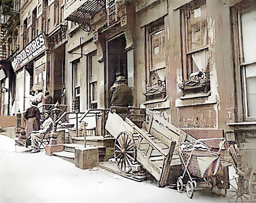
POLYGON ((41 33, 13 58, 12 67, 14 71, 22 68, 31 59, 45 51, 45 49, 44 33, 41 33))

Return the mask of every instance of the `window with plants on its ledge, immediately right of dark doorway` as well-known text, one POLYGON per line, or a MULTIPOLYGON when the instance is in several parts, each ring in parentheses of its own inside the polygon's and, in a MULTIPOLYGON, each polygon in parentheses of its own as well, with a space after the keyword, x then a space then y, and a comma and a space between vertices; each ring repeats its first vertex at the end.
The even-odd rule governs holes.
POLYGON ((146 27, 147 100, 166 96, 165 33, 163 18, 146 27))

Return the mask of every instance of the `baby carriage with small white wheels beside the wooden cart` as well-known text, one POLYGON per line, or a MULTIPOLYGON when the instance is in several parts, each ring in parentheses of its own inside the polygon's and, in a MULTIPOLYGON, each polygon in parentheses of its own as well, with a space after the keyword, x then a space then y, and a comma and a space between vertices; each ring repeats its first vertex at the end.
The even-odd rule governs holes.
POLYGON ((221 171, 221 156, 219 152, 225 141, 224 138, 199 139, 179 145, 179 156, 184 170, 177 180, 177 190, 179 192, 182 192, 183 186, 186 186, 187 195, 192 199, 198 182, 205 182, 209 187, 208 178, 217 176, 221 171), (218 139, 221 140, 218 151, 211 150, 202 142, 218 139))

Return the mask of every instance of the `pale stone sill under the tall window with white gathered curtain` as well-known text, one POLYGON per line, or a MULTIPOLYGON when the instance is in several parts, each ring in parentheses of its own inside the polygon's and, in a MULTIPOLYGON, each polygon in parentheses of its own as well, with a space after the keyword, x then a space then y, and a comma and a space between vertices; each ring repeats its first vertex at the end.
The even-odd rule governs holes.
POLYGON ((204 94, 204 96, 195 97, 196 94, 193 94, 192 97, 189 97, 188 95, 181 97, 179 99, 176 99, 175 106, 176 107, 184 107, 184 106, 195 106, 195 105, 203 105, 203 104, 216 104, 216 98, 214 95, 207 96, 207 94, 204 94))

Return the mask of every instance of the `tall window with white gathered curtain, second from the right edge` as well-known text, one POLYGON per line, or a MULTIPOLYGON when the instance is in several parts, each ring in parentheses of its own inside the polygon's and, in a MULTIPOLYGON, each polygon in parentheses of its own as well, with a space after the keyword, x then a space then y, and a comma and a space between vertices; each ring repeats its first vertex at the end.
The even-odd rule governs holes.
POLYGON ((187 93, 210 90, 208 19, 205 0, 192 1, 181 7, 183 84, 187 93))

